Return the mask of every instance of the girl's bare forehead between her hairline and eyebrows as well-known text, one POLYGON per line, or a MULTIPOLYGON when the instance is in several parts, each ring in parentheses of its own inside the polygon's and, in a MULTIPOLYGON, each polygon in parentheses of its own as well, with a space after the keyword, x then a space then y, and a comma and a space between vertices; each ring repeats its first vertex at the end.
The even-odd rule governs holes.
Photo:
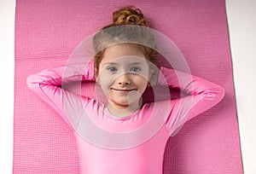
POLYGON ((131 63, 133 61, 145 62, 146 58, 143 49, 135 44, 117 44, 105 50, 102 63, 119 62, 131 63))

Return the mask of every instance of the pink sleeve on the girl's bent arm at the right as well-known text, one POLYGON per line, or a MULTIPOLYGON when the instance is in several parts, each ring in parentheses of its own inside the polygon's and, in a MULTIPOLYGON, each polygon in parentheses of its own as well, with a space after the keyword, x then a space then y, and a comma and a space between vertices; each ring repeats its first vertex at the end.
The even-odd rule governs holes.
POLYGON ((168 105, 166 129, 171 136, 176 135, 186 121, 207 111, 224 98, 224 88, 220 85, 166 67, 160 68, 158 84, 176 88, 187 95, 160 103, 160 106, 168 105))

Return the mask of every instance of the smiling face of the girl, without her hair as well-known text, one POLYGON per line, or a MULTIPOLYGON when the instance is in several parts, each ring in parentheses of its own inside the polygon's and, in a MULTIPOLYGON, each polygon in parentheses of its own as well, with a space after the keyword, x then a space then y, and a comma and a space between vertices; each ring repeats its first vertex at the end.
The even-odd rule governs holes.
POLYGON ((139 107, 152 73, 141 49, 133 44, 118 44, 105 50, 96 82, 108 97, 108 107, 139 107))

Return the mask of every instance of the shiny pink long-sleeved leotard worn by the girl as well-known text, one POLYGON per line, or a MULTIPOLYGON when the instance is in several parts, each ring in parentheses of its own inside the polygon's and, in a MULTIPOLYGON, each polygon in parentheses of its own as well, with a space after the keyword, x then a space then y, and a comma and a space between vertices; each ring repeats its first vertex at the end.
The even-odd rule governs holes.
MULTIPOLYGON (((93 63, 89 63, 85 70, 82 65, 44 70, 40 73, 32 74, 27 78, 26 82, 36 95, 40 96, 44 102, 49 103, 51 107, 61 114, 67 124, 71 125, 75 130, 79 146, 81 173, 160 174, 162 173, 164 151, 168 138, 174 135, 175 131, 183 125, 184 119, 189 120, 203 113, 224 97, 224 89, 206 79, 177 72, 166 67, 161 67, 160 72, 165 76, 165 79, 159 78, 159 85, 164 85, 167 82, 169 86, 179 88, 189 96, 169 101, 146 103, 136 113, 122 118, 113 116, 108 112, 107 107, 97 102, 94 98, 79 96, 61 89, 61 84, 72 81, 80 79, 94 80, 93 63), (63 78, 63 73, 66 74, 65 78, 63 78), (178 75, 176 75, 177 73, 178 75), (187 84, 183 86, 193 85, 193 87, 181 88, 180 82, 176 78, 177 76, 179 80, 187 76, 192 77, 191 81, 186 82, 187 84), (186 100, 191 101, 190 106, 181 106, 181 103, 186 100), (168 108, 168 110, 163 110, 163 108, 168 108), (161 114, 166 115, 163 119, 163 124, 156 129, 157 131, 152 131, 154 135, 152 134, 144 142, 137 143, 137 140, 135 140, 137 144, 131 148, 118 149, 119 144, 116 146, 115 140, 91 131, 84 123, 84 120, 86 120, 84 117, 89 117, 93 123, 106 130, 106 132, 130 132, 145 125, 154 111, 157 111, 156 113, 158 113, 159 117, 161 117, 161 114), (95 136, 99 140, 93 140, 94 142, 86 141, 84 135, 89 135, 92 139, 95 136), (105 147, 104 144, 100 144, 101 141, 104 142, 102 139, 106 142, 105 147), (100 145, 97 145, 97 141, 100 141, 100 145), (106 148, 111 145, 113 145, 113 149, 106 148)), ((126 143, 125 138, 122 141, 124 144, 126 143)))

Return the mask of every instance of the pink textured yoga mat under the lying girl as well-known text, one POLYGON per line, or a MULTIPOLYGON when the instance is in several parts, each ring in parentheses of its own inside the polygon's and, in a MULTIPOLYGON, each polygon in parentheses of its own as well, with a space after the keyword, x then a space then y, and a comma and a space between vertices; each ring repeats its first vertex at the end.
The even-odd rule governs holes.
MULTIPOLYGON (((15 174, 79 173, 73 131, 26 87, 26 77, 65 65, 73 49, 134 5, 177 44, 191 73, 220 84, 224 100, 169 139, 165 174, 241 174, 241 149, 224 0, 25 1, 15 19, 15 174)), ((93 96, 89 91, 88 96, 93 96)), ((118 165, 118 164, 117 164, 118 165)), ((99 166, 100 167, 100 166, 99 166)))

